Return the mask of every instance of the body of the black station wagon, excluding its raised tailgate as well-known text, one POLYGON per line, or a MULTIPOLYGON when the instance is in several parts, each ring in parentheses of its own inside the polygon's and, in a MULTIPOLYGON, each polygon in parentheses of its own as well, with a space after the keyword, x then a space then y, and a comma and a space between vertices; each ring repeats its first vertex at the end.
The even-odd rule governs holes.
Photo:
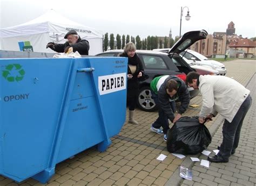
MULTIPOLYGON (((106 51, 97 56, 118 56, 123 50, 106 51)), ((185 81, 186 74, 193 70, 179 55, 170 59, 166 53, 154 51, 136 51, 143 63, 144 75, 139 78, 139 95, 137 105, 144 111, 156 110, 156 103, 151 97, 150 82, 154 77, 161 75, 176 75, 185 81)), ((189 88, 191 98, 198 95, 198 90, 189 88)))

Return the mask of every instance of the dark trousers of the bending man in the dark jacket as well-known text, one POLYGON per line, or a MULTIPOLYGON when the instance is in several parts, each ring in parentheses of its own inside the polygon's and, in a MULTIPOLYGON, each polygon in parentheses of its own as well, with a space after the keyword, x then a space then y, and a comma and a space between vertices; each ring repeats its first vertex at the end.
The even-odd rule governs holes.
MULTIPOLYGON (((151 91, 151 95, 152 98, 154 99, 154 103, 156 103, 156 105, 158 106, 158 118, 156 121, 154 121, 154 123, 152 124, 152 126, 154 128, 160 128, 163 127, 163 132, 164 134, 167 133, 167 130, 170 129, 169 128, 169 121, 168 121, 168 117, 165 114, 164 110, 161 109, 160 105, 159 105, 159 100, 158 100, 158 96, 157 94, 155 94, 153 91, 151 91)), ((176 112, 176 104, 175 101, 169 102, 172 108, 172 112, 175 113, 176 112)))

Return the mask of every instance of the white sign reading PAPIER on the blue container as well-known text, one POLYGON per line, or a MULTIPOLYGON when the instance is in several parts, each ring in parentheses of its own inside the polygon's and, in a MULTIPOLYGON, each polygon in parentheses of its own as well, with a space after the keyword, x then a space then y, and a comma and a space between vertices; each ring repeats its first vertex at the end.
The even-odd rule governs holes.
POLYGON ((99 95, 126 89, 126 73, 99 76, 98 89, 99 95))

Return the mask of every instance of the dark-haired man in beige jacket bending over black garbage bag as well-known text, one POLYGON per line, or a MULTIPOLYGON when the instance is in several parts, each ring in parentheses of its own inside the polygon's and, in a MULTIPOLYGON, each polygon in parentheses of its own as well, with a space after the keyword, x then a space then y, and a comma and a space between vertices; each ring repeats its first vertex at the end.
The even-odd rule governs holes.
POLYGON ((250 90, 226 76, 187 74, 186 82, 190 87, 199 89, 203 103, 199 113, 199 123, 205 118, 215 117, 218 113, 224 117, 223 142, 219 153, 208 157, 211 162, 228 162, 238 147, 242 122, 252 104, 250 90))

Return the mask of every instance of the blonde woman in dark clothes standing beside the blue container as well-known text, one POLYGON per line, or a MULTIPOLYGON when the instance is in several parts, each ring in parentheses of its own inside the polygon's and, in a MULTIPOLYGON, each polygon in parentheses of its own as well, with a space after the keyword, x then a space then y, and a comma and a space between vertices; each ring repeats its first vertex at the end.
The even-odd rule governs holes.
POLYGON ((127 71, 127 103, 129 105, 129 121, 131 124, 138 124, 134 120, 134 110, 139 92, 139 77, 142 77, 143 67, 138 55, 136 54, 136 46, 133 42, 129 42, 124 47, 124 52, 120 54, 122 57, 128 58, 127 71))

